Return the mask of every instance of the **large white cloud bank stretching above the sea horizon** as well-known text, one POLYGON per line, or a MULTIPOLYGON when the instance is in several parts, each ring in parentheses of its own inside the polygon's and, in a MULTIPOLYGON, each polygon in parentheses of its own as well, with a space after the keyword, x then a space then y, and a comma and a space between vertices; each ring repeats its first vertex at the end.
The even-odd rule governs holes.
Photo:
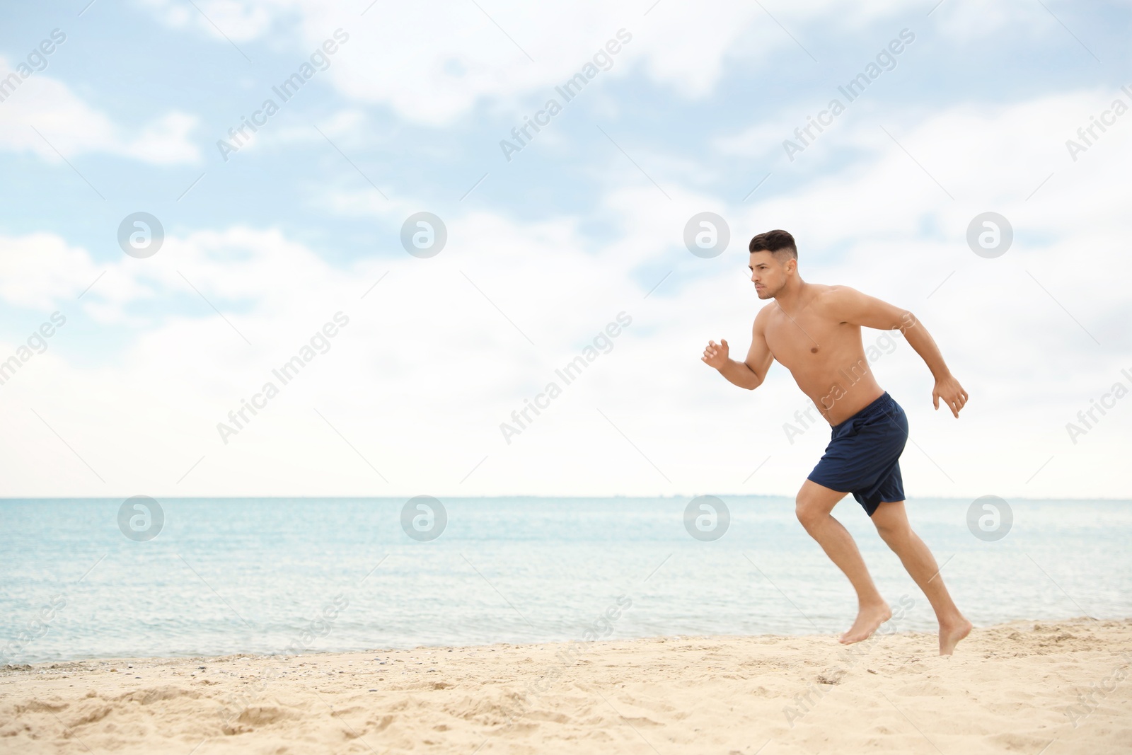
MULTIPOLYGON (((68 311, 72 329, 2 387, 10 495, 791 494, 827 429, 787 443, 782 423, 805 400, 781 367, 746 393, 698 361, 710 337, 746 349, 761 302, 743 277, 743 243, 769 228, 798 235, 807 280, 912 309, 970 392, 955 421, 932 410, 931 376, 907 344, 876 366, 911 418, 915 444, 902 462, 910 495, 1122 495, 1114 470, 1129 451, 1132 404, 1077 445, 1064 430, 1121 367, 1132 368, 1123 283, 1132 261, 1121 246, 1132 231, 1121 172, 1132 140, 1114 128, 1077 163, 1063 145, 1109 94, 909 112, 890 123, 954 200, 859 118, 823 144, 854 143, 867 158, 746 205, 676 181, 668 200, 636 172, 610 169, 600 214, 617 238, 601 246, 577 218, 518 223, 484 211, 446 217, 448 246, 432 259, 398 252, 344 268, 275 230, 166 238, 155 257, 108 265, 68 311), (684 223, 705 208, 732 229, 729 252, 711 260, 680 246, 684 223), (986 209, 1015 229, 1000 259, 976 257, 963 240, 986 209), (645 269, 657 281, 672 271, 648 299, 645 269), (338 310, 350 325, 331 350, 223 445, 216 423, 338 310), (499 423, 621 310, 633 324, 612 351, 504 443, 499 423), (83 327, 136 335, 87 363, 67 341, 83 327), (43 407, 105 486, 29 411, 43 407)), ((822 160, 822 148, 803 158, 822 160)), ((372 196, 331 201, 358 212, 358 198, 372 196)), ((411 205, 380 200, 367 211, 398 216, 411 205)), ((45 308, 57 289, 76 295, 101 269, 49 234, 3 248, 0 295, 23 307, 45 308)))

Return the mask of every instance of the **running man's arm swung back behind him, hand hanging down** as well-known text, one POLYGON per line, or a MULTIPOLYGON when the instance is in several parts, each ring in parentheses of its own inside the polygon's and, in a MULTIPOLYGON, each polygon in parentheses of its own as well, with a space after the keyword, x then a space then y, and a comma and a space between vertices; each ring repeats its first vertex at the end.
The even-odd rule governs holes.
POLYGON ((831 314, 842 323, 878 331, 900 331, 908 340, 908 344, 932 370, 932 376, 935 378, 932 402, 935 407, 940 409, 940 400, 943 398, 951 413, 959 417, 959 410, 967 403, 967 392, 951 375, 932 334, 915 315, 844 285, 834 286, 826 295, 831 314))

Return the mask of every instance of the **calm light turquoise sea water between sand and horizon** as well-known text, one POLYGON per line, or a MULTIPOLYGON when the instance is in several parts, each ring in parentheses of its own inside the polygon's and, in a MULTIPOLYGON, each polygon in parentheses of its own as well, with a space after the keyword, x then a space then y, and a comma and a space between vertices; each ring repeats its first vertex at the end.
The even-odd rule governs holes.
MULTIPOLYGON (((852 591, 792 499, 722 499, 713 542, 685 530, 687 498, 445 499, 430 542, 402 530, 403 498, 162 499, 143 542, 121 499, 0 500, 0 663, 843 630, 852 591)), ((970 503, 908 506, 977 626, 1132 617, 1132 501, 1011 500, 996 542, 970 503)), ((860 507, 834 515, 890 602, 915 600, 900 628, 934 629, 860 507)))

